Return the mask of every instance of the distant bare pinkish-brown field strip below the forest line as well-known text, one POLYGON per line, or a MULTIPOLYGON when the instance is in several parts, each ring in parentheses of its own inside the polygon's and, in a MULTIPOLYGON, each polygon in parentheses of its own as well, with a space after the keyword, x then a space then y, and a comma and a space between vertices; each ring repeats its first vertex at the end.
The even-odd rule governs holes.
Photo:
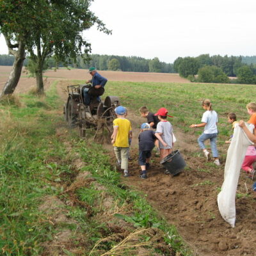
MULTIPOLYGON (((11 71, 10 66, 0 66, 0 90, 6 83, 11 71)), ((71 69, 60 68, 56 72, 49 70, 44 73, 47 77, 47 87, 51 81, 56 79, 70 79, 70 80, 83 80, 86 81, 91 78, 88 70, 84 69, 71 69)), ((187 79, 180 77, 178 74, 166 73, 142 73, 142 72, 120 72, 120 71, 99 71, 100 74, 109 81, 130 81, 130 82, 156 82, 156 83, 189 83, 187 79)), ((28 77, 25 70, 22 72, 16 93, 28 92, 35 86, 35 78, 28 77)))

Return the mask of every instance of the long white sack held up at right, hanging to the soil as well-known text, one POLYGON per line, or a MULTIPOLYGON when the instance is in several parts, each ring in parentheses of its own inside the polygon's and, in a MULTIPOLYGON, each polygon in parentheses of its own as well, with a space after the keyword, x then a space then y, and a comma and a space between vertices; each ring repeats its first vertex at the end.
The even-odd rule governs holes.
MULTIPOLYGON (((247 124, 246 127, 253 132, 254 125, 247 124)), ((225 163, 224 182, 218 195, 218 207, 222 218, 232 227, 236 222, 236 189, 243 164, 244 156, 248 146, 253 142, 249 140, 243 129, 237 126, 228 147, 227 160, 225 163)))

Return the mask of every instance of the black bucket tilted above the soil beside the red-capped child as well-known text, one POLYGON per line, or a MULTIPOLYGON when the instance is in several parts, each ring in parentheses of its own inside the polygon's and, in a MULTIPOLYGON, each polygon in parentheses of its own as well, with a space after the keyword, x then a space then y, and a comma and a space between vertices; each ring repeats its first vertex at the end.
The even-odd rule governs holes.
POLYGON ((166 168, 166 170, 168 170, 173 176, 179 174, 186 166, 179 150, 175 150, 168 156, 164 157, 160 163, 163 164, 164 168, 166 168))

